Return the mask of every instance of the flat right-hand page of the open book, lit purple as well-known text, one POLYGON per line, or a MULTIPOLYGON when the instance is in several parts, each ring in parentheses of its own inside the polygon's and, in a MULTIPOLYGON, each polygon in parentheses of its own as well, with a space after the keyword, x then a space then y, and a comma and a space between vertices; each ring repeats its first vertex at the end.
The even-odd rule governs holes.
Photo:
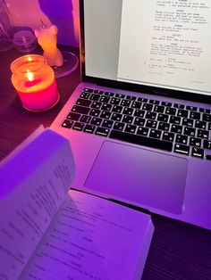
POLYGON ((146 214, 71 190, 21 280, 133 279, 149 226, 146 214))

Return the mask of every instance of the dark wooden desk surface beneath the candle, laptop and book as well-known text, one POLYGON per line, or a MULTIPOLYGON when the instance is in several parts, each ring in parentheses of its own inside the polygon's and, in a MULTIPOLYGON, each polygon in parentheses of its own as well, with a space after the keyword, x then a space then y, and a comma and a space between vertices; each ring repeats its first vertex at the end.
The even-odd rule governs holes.
MULTIPOLYGON (((77 48, 64 49, 79 54, 77 48)), ((61 99, 55 108, 26 111, 11 83, 10 64, 21 55, 15 50, 0 53, 0 160, 40 124, 49 127, 80 82, 78 67, 57 79, 61 99)), ((156 215, 152 219, 155 233, 142 279, 211 279, 211 232, 156 215)))

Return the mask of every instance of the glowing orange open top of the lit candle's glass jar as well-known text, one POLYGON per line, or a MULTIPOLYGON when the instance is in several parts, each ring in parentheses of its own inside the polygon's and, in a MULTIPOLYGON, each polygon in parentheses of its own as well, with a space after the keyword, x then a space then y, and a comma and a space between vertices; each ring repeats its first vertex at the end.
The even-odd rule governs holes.
POLYGON ((19 72, 25 74, 29 72, 35 72, 46 66, 46 58, 39 54, 26 54, 23 55, 11 63, 10 69, 13 73, 19 72))

